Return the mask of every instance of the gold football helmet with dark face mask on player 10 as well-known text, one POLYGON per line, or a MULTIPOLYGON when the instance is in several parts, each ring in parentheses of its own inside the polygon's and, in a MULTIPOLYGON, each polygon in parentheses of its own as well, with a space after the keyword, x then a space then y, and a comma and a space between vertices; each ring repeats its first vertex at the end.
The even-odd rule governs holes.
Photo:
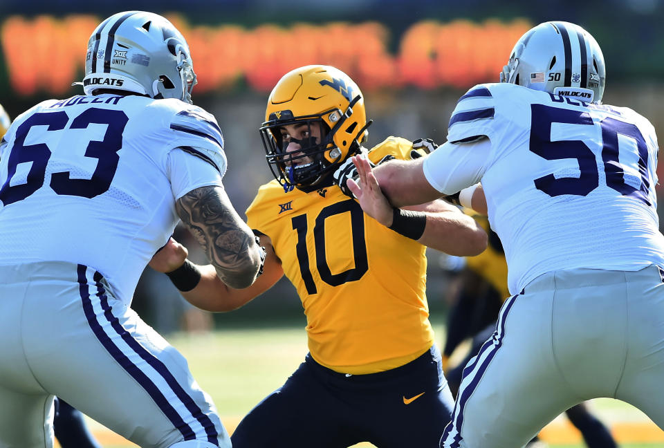
POLYGON ((265 120, 260 132, 268 165, 286 191, 319 185, 340 162, 360 150, 371 124, 357 84, 338 68, 320 65, 286 73, 270 93, 265 120), (301 140, 302 150, 288 153, 279 128, 302 122, 310 129, 320 124, 320 141, 301 140), (310 161, 301 163, 304 158, 310 161))

